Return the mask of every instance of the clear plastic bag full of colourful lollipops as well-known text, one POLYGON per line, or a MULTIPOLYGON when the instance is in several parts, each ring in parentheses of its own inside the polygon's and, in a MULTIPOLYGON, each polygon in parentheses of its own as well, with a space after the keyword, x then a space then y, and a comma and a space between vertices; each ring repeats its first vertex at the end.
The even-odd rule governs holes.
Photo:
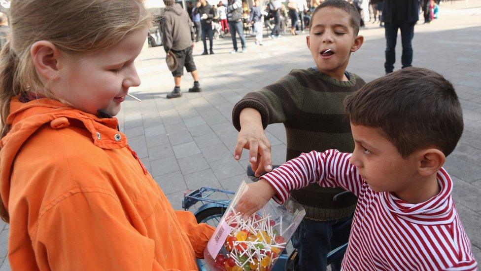
POLYGON ((235 206, 248 190, 246 182, 250 182, 248 177, 242 180, 204 250, 211 270, 271 270, 306 214, 292 198, 283 205, 271 199, 249 219, 242 219, 235 206))

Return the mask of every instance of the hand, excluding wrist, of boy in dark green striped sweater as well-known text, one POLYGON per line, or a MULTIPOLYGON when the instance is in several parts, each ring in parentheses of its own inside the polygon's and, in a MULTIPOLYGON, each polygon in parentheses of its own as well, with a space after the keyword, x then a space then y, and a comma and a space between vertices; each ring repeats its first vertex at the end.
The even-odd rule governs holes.
POLYGON ((257 125, 243 125, 237 137, 237 145, 234 156, 237 160, 241 159, 242 149, 249 150, 249 162, 255 176, 259 177, 264 172, 272 170, 271 143, 266 137, 266 133, 257 125))

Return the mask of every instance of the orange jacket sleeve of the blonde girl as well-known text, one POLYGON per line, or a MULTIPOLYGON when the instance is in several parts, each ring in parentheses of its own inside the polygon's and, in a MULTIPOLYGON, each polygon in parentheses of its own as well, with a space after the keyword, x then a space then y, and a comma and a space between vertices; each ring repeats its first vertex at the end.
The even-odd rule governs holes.
MULTIPOLYGON (((164 270, 108 191, 68 193, 41 213, 32 246, 45 270, 164 270)), ((40 268, 42 269, 42 268, 40 268)))

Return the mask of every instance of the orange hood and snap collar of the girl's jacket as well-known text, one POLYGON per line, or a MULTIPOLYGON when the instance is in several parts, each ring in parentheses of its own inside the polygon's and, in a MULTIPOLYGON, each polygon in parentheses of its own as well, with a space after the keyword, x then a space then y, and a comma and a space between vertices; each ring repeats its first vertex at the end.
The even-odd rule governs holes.
POLYGON ((7 118, 10 131, 0 140, 0 194, 5 207, 8 206, 12 165, 24 143, 44 124, 60 129, 74 120, 85 126, 92 134, 94 145, 99 148, 120 149, 127 145, 125 135, 117 130, 116 118, 99 118, 47 98, 27 103, 11 99, 7 118))

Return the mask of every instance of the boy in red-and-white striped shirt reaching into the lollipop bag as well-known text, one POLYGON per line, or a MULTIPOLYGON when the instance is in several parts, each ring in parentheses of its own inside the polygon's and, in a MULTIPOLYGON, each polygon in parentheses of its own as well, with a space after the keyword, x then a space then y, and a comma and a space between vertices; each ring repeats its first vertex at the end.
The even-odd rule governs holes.
POLYGON ((378 78, 344 101, 352 154, 328 150, 292 159, 250 184, 245 215, 309 183, 358 196, 343 270, 476 270, 471 242, 442 168, 461 137, 453 86, 427 69, 378 78))

